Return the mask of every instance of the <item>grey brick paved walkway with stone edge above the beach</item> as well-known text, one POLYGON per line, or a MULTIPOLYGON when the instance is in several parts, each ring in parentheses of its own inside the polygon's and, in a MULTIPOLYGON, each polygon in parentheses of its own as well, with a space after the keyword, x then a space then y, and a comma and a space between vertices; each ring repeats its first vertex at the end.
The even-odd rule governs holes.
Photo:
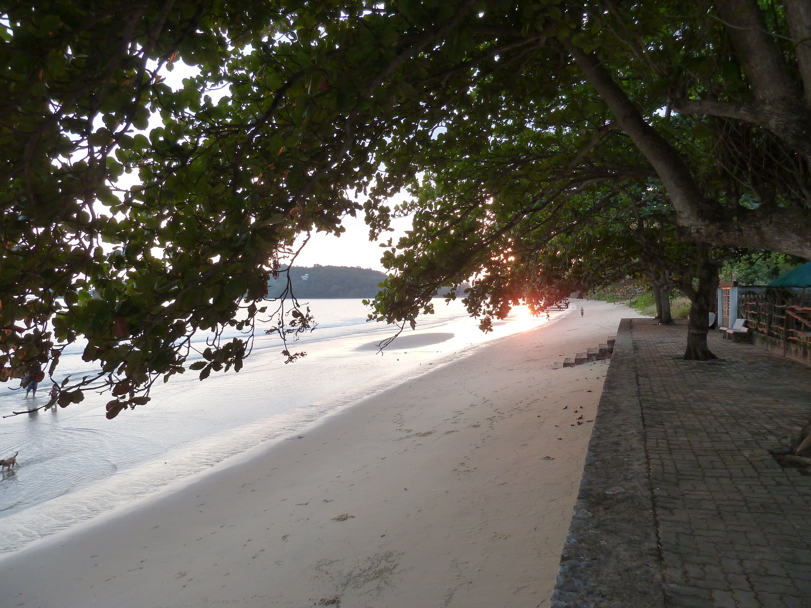
POLYGON ((811 368, 624 320, 561 558, 562 606, 811 606, 811 477, 767 452, 811 417, 811 368))

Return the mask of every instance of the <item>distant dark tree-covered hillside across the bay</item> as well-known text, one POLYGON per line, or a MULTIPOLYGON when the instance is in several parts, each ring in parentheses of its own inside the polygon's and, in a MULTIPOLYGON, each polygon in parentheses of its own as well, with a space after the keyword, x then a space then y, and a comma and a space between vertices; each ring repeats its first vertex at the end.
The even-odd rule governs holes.
MULTIPOLYGON (((371 268, 350 266, 320 266, 312 268, 294 267, 290 270, 290 280, 296 298, 374 298, 386 278, 383 272, 371 268), (306 278, 305 278, 306 277, 306 278)), ((270 280, 269 295, 277 298, 285 289, 286 276, 270 280)))

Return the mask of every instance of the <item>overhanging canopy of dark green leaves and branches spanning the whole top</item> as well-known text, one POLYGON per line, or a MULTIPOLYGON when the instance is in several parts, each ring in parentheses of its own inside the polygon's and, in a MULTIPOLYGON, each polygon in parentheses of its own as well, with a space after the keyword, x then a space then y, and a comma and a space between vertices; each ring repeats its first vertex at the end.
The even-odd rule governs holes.
MULTIPOLYGON (((59 403, 101 382, 114 416, 201 329, 247 332, 215 337, 201 378, 238 369, 281 258, 340 232, 349 191, 371 193, 373 233, 417 214, 387 254, 388 320, 429 293, 411 277, 496 272, 597 184, 654 180, 685 238, 811 256, 804 7, 3 2, 2 374, 53 372, 84 336, 101 374, 59 403), (199 73, 173 89, 178 60, 199 73), (389 209, 403 186, 421 198, 389 209)), ((307 328, 295 314, 280 332, 307 328)))

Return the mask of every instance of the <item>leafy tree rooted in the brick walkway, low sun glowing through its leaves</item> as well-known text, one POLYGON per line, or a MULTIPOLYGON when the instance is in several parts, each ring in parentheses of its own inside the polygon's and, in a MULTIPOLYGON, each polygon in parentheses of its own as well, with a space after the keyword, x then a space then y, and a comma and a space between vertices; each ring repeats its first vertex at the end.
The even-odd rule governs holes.
MULTIPOLYGON (((547 306, 577 285, 637 272, 650 277, 656 293, 665 292, 659 298, 665 322, 676 280, 708 309, 717 273, 714 281, 698 273, 709 286, 693 291, 696 246, 676 232, 656 174, 590 88, 567 87, 564 105, 556 87, 537 85, 534 75, 509 78, 506 101, 503 83, 480 83, 470 95, 453 97, 446 132, 386 157, 388 190, 380 192, 410 183, 415 199, 379 208, 373 225, 414 212, 414 229, 384 254, 393 276, 372 318, 414 323, 431 311, 440 285, 458 288, 467 276, 475 278, 465 302, 482 316, 483 329, 519 302, 547 306)), ((368 208, 372 215, 375 207, 368 208)), ((691 316, 688 358, 711 357, 707 317, 691 316)))

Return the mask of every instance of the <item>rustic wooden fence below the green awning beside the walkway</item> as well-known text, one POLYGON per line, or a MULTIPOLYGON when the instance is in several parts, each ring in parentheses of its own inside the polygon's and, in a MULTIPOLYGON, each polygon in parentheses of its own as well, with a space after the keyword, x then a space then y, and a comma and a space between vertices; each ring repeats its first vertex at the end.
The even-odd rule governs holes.
POLYGON ((738 316, 746 319, 750 332, 811 349, 811 307, 805 298, 785 298, 779 293, 743 294, 738 299, 738 316))

